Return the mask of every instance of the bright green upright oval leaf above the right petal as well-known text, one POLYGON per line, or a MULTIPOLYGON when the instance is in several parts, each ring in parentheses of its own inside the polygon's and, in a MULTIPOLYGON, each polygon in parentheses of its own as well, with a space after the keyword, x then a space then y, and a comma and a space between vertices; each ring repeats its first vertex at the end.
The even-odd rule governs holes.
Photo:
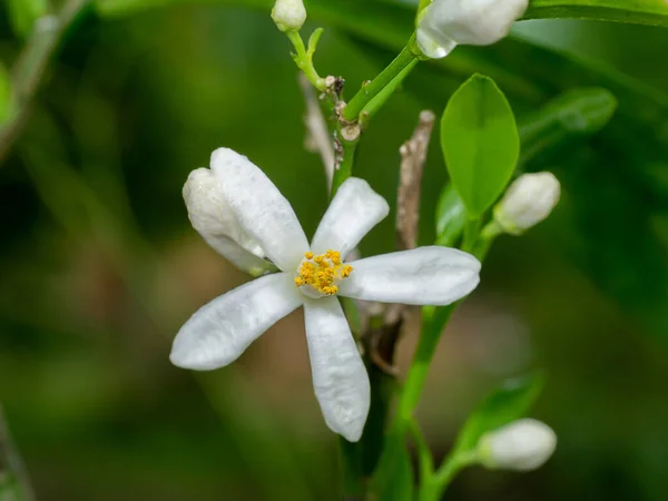
POLYGON ((450 98, 441 147, 469 217, 480 217, 508 185, 520 156, 512 109, 491 78, 473 75, 450 98))

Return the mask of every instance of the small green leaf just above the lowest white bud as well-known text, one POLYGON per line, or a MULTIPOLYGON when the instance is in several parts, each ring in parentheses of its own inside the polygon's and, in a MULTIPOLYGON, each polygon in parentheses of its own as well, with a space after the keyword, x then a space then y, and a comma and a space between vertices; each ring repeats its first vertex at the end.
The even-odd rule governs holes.
POLYGON ((512 421, 523 418, 542 391, 544 377, 534 373, 505 381, 473 411, 456 440, 458 453, 475 449, 480 438, 512 421))

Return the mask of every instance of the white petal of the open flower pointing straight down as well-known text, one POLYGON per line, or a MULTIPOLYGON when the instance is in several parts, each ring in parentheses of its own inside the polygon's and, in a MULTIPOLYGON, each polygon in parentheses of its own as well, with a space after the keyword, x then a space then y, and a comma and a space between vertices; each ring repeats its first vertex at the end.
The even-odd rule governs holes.
POLYGON ((362 436, 371 404, 369 374, 335 297, 304 304, 313 386, 327 426, 350 442, 362 436))

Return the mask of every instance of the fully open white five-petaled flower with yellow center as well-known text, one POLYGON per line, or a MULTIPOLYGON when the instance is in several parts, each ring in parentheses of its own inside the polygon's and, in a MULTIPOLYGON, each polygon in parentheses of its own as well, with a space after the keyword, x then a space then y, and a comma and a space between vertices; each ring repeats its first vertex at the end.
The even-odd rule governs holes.
MULTIPOLYGON (((184 191, 195 227, 223 255, 243 255, 250 266, 257 264, 253 259, 266 256, 279 273, 203 306, 178 332, 171 362, 194 370, 227 365, 275 322, 304 306, 315 395, 327 425, 350 441, 362 435, 370 384, 335 295, 445 305, 469 294, 479 282, 478 259, 445 247, 346 263, 346 255, 390 210, 362 179, 350 178, 341 186, 311 246, 274 184, 230 149, 214 151, 212 170, 193 173, 184 191)), ((246 264, 240 258, 234 262, 246 264)))

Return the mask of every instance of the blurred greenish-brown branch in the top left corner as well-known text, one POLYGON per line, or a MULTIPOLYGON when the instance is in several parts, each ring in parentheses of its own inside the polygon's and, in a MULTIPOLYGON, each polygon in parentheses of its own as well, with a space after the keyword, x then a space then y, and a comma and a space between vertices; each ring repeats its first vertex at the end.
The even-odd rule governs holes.
POLYGON ((68 0, 58 16, 45 16, 35 22, 32 35, 11 70, 17 111, 0 129, 0 160, 9 153, 28 121, 32 99, 45 77, 51 56, 67 29, 90 2, 91 0, 68 0))

